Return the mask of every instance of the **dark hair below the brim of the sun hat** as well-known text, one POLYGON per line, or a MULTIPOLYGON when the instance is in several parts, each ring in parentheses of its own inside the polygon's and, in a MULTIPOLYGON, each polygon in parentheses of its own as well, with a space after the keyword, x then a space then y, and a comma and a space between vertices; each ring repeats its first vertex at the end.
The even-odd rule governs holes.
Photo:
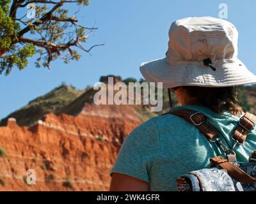
POLYGON ((198 99, 200 104, 211 108, 216 113, 223 110, 234 115, 241 115, 243 109, 239 105, 239 87, 195 87, 184 86, 183 89, 188 91, 189 95, 198 99))

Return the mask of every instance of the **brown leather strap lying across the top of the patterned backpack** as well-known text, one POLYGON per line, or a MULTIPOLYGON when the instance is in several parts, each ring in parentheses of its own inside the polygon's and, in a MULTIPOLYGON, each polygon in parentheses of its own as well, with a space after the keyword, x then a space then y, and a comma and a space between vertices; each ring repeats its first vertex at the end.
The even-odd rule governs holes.
POLYGON ((218 156, 210 159, 211 167, 220 166, 224 170, 227 171, 228 175, 232 177, 232 179, 237 180, 243 184, 251 184, 256 182, 256 179, 248 175, 248 173, 244 172, 238 166, 229 163, 227 159, 223 159, 223 157, 218 156))

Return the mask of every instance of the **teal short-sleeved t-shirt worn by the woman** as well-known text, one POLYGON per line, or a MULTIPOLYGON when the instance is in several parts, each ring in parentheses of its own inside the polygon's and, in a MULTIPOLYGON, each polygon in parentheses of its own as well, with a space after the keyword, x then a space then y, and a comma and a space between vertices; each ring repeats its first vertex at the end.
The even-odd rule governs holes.
MULTIPOLYGON (((207 122, 220 133, 221 142, 232 147, 232 134, 242 115, 221 114, 198 105, 176 106, 204 113, 207 122)), ((244 145, 235 148, 237 160, 248 161, 256 150, 253 129, 244 145)), ((220 148, 209 142, 192 124, 175 115, 154 117, 135 128, 125 139, 111 170, 149 183, 150 191, 176 191, 176 179, 188 171, 209 167, 209 159, 223 156, 220 148)))

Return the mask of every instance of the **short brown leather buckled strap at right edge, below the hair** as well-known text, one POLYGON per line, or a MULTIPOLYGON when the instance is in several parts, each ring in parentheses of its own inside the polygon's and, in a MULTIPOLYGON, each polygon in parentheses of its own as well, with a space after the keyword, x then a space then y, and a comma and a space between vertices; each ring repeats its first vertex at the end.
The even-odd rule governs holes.
POLYGON ((239 120, 239 126, 237 126, 232 136, 233 140, 240 144, 243 144, 249 131, 255 127, 256 116, 252 113, 246 112, 239 120))

